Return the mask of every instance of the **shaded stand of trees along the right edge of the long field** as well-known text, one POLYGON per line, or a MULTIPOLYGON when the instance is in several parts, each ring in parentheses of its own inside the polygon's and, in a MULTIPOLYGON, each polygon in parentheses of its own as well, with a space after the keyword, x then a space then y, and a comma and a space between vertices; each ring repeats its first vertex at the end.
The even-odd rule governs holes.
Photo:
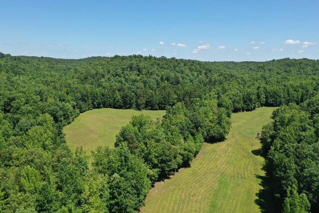
POLYGON ((319 212, 319 96, 275 110, 262 149, 273 205, 285 213, 319 212))

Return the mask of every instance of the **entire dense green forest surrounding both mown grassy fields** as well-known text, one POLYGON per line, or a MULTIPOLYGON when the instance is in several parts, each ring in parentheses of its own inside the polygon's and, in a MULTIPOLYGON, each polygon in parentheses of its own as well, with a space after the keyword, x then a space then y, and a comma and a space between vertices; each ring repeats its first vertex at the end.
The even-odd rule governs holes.
POLYGON ((225 139, 232 112, 282 105, 262 134, 274 200, 285 212, 316 212, 318 91, 319 60, 0 53, 0 212, 138 212, 152 184, 189 165, 203 142, 225 139), (89 169, 62 128, 103 107, 167 112, 133 117, 114 149, 93 152, 89 169))

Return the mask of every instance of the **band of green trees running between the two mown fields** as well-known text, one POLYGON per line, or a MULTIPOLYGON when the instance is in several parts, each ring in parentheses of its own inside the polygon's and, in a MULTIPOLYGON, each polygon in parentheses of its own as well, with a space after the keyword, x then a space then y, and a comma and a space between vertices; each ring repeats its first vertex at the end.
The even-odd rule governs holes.
POLYGON ((117 135, 115 149, 97 149, 93 171, 108 177, 109 199, 104 201, 108 211, 138 212, 151 184, 189 165, 204 140, 226 137, 230 119, 214 96, 191 106, 188 110, 177 103, 156 122, 149 116, 134 116, 117 135))

